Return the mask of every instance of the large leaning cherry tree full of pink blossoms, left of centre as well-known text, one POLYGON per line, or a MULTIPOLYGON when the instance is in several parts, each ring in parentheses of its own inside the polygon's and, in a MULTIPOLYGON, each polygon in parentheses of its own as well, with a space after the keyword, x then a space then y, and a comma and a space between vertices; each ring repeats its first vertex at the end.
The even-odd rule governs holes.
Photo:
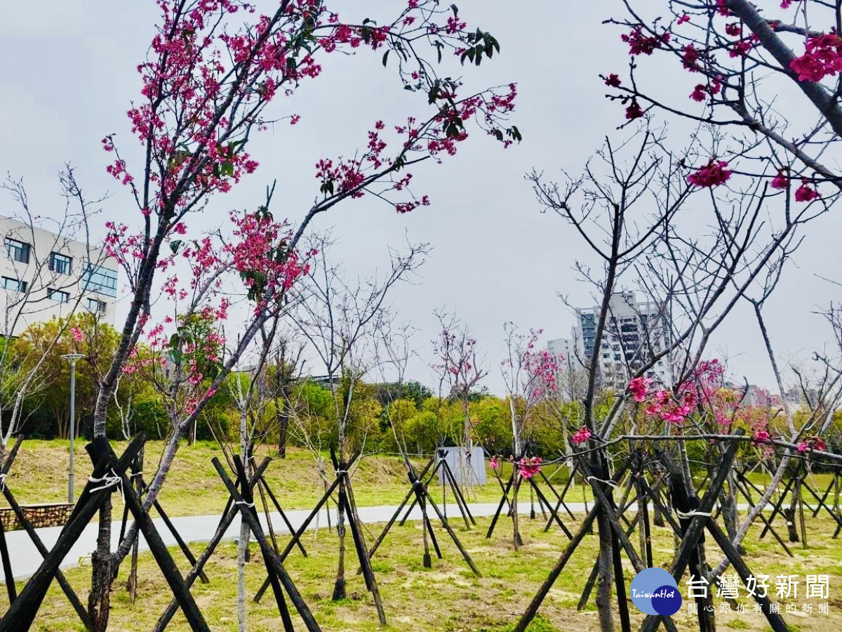
MULTIPOLYGON (((152 322, 157 288, 179 300, 200 291, 202 300, 192 311, 171 317, 169 325, 176 331, 168 338, 168 347, 171 354, 184 355, 184 366, 193 373, 188 382, 192 379, 198 385, 199 373, 210 378, 202 367, 216 375, 208 388, 190 398, 184 417, 174 427, 145 499, 147 507, 166 478, 190 418, 200 414, 303 273, 306 254, 298 252, 298 244, 313 217, 364 195, 376 195, 397 212, 429 204, 426 195, 413 195, 408 169, 456 153, 472 125, 504 146, 520 140, 516 127, 504 125, 514 108, 514 84, 463 94, 461 82, 440 77, 428 59, 432 51, 437 58, 448 54, 461 62, 479 63, 498 53, 493 35, 469 28, 455 6, 409 0, 392 17, 360 24, 343 22, 319 0, 280 0, 274 12, 265 15, 242 0, 158 0, 158 7, 161 18, 147 60, 137 67, 141 98, 128 113, 141 151, 118 143, 114 135, 103 139, 104 149, 114 157, 109 173, 125 186, 136 216, 123 212, 121 217, 128 219, 108 224, 107 248, 125 270, 131 301, 120 329, 120 346, 99 390, 93 413, 95 437, 104 437, 109 400, 141 336, 151 331, 161 336, 167 330, 166 326, 157 330, 161 323, 152 322), (381 62, 391 63, 397 85, 418 93, 429 105, 429 115, 409 115, 388 129, 385 122, 376 121, 362 139, 359 153, 322 158, 315 174, 318 195, 295 228, 276 221, 264 207, 234 214, 232 240, 221 250, 206 241, 210 238, 202 237, 197 226, 211 198, 258 169, 257 160, 248 153, 249 139, 272 121, 299 119, 295 113, 275 109, 274 103, 317 78, 327 56, 356 49, 376 51, 381 62), (186 285, 179 281, 177 261, 193 270, 186 285), (197 268, 214 272, 199 274, 197 268), (212 322, 224 318, 224 297, 211 291, 223 270, 236 270, 242 278, 254 315, 230 356, 220 362, 212 350, 205 353, 196 347, 187 330, 190 319, 204 319, 212 327, 212 322)), ((108 622, 112 566, 121 554, 125 556, 121 548, 112 559, 109 525, 106 503, 100 513, 89 597, 98 630, 108 622)), ((131 533, 136 534, 136 528, 131 533)))

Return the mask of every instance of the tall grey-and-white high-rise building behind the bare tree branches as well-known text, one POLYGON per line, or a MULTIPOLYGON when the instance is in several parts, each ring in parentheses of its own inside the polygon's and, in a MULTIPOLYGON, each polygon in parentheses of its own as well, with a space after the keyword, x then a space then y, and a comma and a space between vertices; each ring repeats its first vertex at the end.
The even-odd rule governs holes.
MULTIPOLYGON (((609 301, 600 345, 599 383, 605 388, 625 390, 632 374, 669 345, 669 315, 657 303, 638 302, 634 292, 617 292, 609 301)), ((573 340, 586 364, 594 353, 600 306, 576 310, 573 340)), ((672 382, 669 355, 647 372, 660 383, 672 382)))

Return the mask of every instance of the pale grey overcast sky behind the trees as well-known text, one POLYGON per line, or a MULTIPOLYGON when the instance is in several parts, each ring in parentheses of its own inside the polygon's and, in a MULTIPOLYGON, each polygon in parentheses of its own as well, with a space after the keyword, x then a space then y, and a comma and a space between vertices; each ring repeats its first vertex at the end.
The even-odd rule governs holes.
MULTIPOLYGON (((331 6, 340 13, 364 7, 374 16, 402 2, 331 6)), ((592 303, 589 288, 572 270, 574 260, 587 261, 589 254, 567 224, 541 213, 523 176, 533 167, 552 176, 560 169, 577 172, 622 121, 621 107, 605 99, 605 86, 597 77, 600 72, 622 72, 627 65, 618 31, 601 24, 621 3, 544 2, 540 11, 538 4, 459 3, 469 23, 491 31, 503 49, 479 72, 466 71, 471 85, 519 84, 514 122, 524 135, 520 146, 504 151, 498 143, 477 137, 465 143, 456 158, 416 169, 415 190, 429 194, 432 205, 408 215, 399 216, 391 207, 364 198, 318 220, 317 228, 333 227, 341 237, 338 255, 354 275, 383 268, 387 245, 404 243, 405 234, 432 245, 421 282, 399 287, 392 295, 394 307, 418 328, 416 345, 422 359, 413 363, 410 377, 422 382, 432 383, 426 365, 431 360, 429 340, 436 335, 434 308, 455 310, 471 325, 488 356, 488 388, 501 392, 498 361, 504 322, 543 328, 544 340, 568 337, 573 317, 557 292, 568 294, 576 304, 592 303)), ((114 193, 104 203, 104 216, 134 217, 126 191, 116 189, 104 173, 109 156, 100 139, 115 133, 121 147, 136 147, 125 110, 139 94, 135 67, 144 58, 156 18, 151 0, 45 0, 7 3, 3 8, 0 172, 24 177, 30 202, 40 214, 61 213, 56 172, 67 161, 77 169, 88 195, 114 193)), ((301 115, 301 123, 279 125, 253 142, 251 152, 260 168, 231 194, 214 201, 207 225, 221 223, 231 208, 254 208, 273 179, 278 180, 273 211, 294 222, 317 194, 313 165, 318 158, 353 153, 365 143, 373 121, 382 119, 388 126, 401 122, 408 107, 418 111, 413 95, 400 89, 380 57, 361 52, 356 58, 322 60, 322 76, 280 104, 278 111, 301 115)), ((685 139, 674 141, 680 145, 685 139)), ((0 213, 14 213, 9 203, 8 197, 0 197, 0 213)), ((838 296, 836 288, 817 275, 842 280, 842 226, 837 216, 823 217, 808 229, 807 242, 769 305, 770 333, 785 360, 806 358, 829 338, 814 312, 838 296)), ((104 221, 102 216, 96 220, 100 225, 104 221)), ((125 305, 118 319, 123 313, 125 305)), ((734 378, 772 382, 746 308, 733 314, 712 352, 729 357, 734 378)))

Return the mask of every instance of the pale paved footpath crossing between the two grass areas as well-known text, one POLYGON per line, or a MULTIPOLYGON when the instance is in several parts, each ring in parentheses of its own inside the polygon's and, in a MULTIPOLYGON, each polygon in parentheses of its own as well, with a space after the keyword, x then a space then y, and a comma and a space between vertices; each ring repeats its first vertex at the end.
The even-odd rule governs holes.
MULTIPOLYGON (((469 505, 469 507, 471 508, 471 513, 473 514, 473 516, 485 517, 493 516, 494 511, 497 511, 497 505, 498 503, 496 502, 483 502, 473 503, 469 505)), ((568 502, 567 505, 570 507, 570 510, 574 513, 579 511, 585 511, 584 503, 582 502, 568 502)), ((370 523, 388 522, 396 509, 397 505, 392 505, 376 507, 359 507, 357 511, 359 511, 360 513, 360 520, 362 522, 370 523)), ((529 513, 529 511, 530 504, 528 502, 521 501, 518 506, 518 512, 529 513)), ((306 517, 310 514, 310 511, 291 510, 285 511, 285 514, 290 519, 293 528, 297 529, 305 521, 306 517)), ((434 515, 432 511, 430 511, 430 514, 434 515)), ((260 513, 259 515, 260 522, 265 529, 266 517, 263 513, 260 513)), ((113 549, 116 548, 117 538, 120 537, 121 516, 122 504, 120 504, 120 502, 118 501, 115 505, 116 520, 112 524, 111 532, 113 549)), ((451 519, 454 516, 456 516, 461 520, 459 511, 456 509, 456 505, 454 504, 448 504, 447 516, 451 519)), ((275 533, 289 533, 289 530, 286 528, 286 525, 281 519, 279 513, 270 513, 269 517, 272 520, 272 527, 274 528, 275 533)), ((421 511, 418 510, 418 508, 416 507, 413 510, 413 513, 410 516, 410 518, 413 520, 419 520, 420 517, 421 511)), ((181 535, 181 537, 184 538, 185 542, 207 542, 208 540, 210 540, 210 538, 213 537, 213 534, 216 532, 216 527, 219 525, 221 516, 184 516, 173 517, 171 518, 171 520, 175 525, 176 530, 178 530, 179 535, 181 535)), ((167 544, 167 546, 175 546, 177 544, 175 538, 173 538, 173 534, 170 533, 169 529, 166 527, 166 525, 164 525, 163 520, 157 518, 153 522, 155 522, 155 528, 157 528, 158 533, 161 534, 161 538, 163 538, 164 544, 167 544)), ((333 510, 331 510, 331 524, 336 524, 336 512, 333 510)), ((319 512, 318 518, 310 523, 309 528, 324 528, 327 526, 328 513, 327 511, 322 510, 319 512)), ((61 533, 61 527, 49 527, 38 529, 38 535, 44 542, 47 549, 51 549, 53 544, 56 544, 56 540, 58 539, 59 533, 61 533)), ((239 533, 240 517, 239 515, 237 515, 237 517, 232 522, 231 526, 226 531, 225 538, 229 540, 237 538, 239 533)), ((26 534, 26 532, 13 531, 7 533, 6 538, 8 542, 9 556, 12 561, 12 570, 15 579, 24 579, 35 573, 35 570, 38 569, 42 558, 41 555, 38 553, 38 549, 35 549, 35 544, 32 544, 31 540, 29 540, 29 536, 26 534)), ((73 566, 85 564, 86 562, 89 563, 90 554, 93 552, 93 549, 96 548, 96 540, 97 524, 94 521, 91 522, 91 524, 89 524, 88 527, 85 528, 85 530, 82 533, 82 536, 77 540, 77 543, 73 545, 72 549, 70 549, 70 552, 67 554, 64 561, 61 564, 61 568, 71 568, 73 566)), ((146 541, 142 538, 142 536, 140 549, 141 551, 149 549, 146 541)), ((198 554, 200 552, 200 549, 194 548, 194 552, 198 554)))

